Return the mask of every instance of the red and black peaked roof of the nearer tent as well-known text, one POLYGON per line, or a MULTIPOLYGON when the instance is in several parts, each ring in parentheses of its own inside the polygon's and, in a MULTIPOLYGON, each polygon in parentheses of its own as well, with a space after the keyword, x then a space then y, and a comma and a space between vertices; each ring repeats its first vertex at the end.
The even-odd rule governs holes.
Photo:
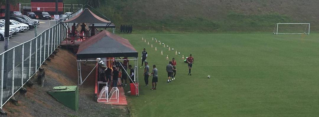
POLYGON ((129 40, 106 30, 91 36, 79 45, 77 58, 138 57, 129 40))

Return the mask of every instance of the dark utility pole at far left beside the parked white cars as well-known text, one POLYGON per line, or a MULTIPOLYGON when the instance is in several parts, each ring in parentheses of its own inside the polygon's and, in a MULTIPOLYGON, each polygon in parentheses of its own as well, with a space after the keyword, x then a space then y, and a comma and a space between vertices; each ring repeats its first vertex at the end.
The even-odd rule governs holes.
POLYGON ((9 27, 10 27, 9 20, 10 20, 10 4, 9 4, 9 0, 5 0, 4 51, 7 51, 9 46, 9 27))

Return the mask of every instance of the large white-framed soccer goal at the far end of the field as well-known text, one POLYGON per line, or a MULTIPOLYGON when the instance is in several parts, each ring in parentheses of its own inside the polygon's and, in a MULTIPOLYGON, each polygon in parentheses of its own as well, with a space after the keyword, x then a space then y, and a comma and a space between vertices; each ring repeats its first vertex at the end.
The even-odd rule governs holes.
POLYGON ((274 34, 310 34, 310 23, 277 23, 274 34))

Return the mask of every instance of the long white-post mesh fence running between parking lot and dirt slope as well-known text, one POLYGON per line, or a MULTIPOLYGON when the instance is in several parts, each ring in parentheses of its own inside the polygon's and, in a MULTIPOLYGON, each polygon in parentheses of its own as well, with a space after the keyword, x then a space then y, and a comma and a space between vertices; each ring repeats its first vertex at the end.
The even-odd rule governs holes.
MULTIPOLYGON (((82 12, 82 9, 78 9, 67 19, 73 18, 80 12, 82 12)), ((1 109, 39 70, 40 66, 64 40, 66 34, 67 28, 64 27, 64 24, 56 22, 56 25, 33 39, 0 54, 1 109)))

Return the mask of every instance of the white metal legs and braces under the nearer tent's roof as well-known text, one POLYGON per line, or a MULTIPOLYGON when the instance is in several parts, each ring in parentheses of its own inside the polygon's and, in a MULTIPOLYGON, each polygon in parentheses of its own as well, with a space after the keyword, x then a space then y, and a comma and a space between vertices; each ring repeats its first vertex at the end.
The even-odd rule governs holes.
MULTIPOLYGON (((93 67, 93 69, 91 70, 91 72, 85 77, 85 79, 84 80, 82 80, 82 69, 81 69, 81 62, 88 62, 88 61, 113 61, 113 60, 134 60, 134 80, 132 80, 131 79, 131 77, 129 77, 130 78, 130 80, 132 81, 132 82, 134 82, 133 84, 134 84, 134 86, 135 86, 135 92, 136 92, 136 96, 139 96, 139 93, 138 93, 138 88, 137 88, 137 85, 136 84, 138 84, 138 64, 137 64, 137 61, 138 61, 138 57, 134 57, 133 59, 112 59, 112 60, 107 60, 107 59, 104 59, 104 60, 81 60, 81 59, 77 59, 77 63, 78 63, 78 85, 82 85, 84 82, 85 82, 85 80, 90 76, 90 74, 93 72, 93 70, 98 66, 98 64, 96 64, 94 67, 93 67)), ((120 63, 121 64, 121 63, 120 63)), ((121 64, 121 66, 123 67, 123 65, 121 64)), ((125 70, 125 73, 127 74, 127 75, 129 75, 128 73, 127 73, 127 71, 125 70)), ((130 75, 129 75, 130 76, 130 75)))

